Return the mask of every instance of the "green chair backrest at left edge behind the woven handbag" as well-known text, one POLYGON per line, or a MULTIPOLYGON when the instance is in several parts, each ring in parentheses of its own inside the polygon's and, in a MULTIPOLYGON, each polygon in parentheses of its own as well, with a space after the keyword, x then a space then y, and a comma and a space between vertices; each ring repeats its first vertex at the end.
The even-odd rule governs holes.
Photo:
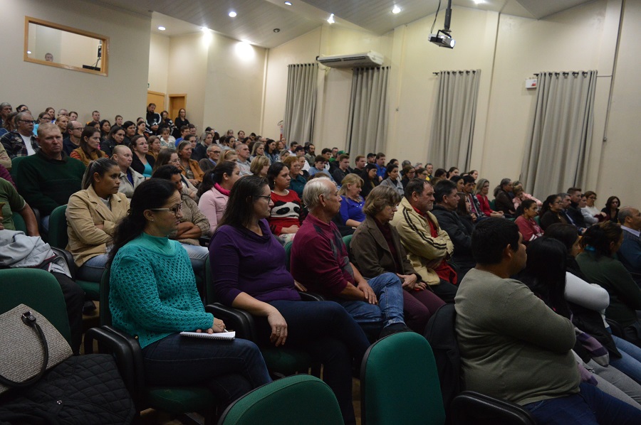
POLYGON ((53 274, 41 269, 0 270, 0 313, 25 304, 44 315, 69 343, 65 297, 53 274))

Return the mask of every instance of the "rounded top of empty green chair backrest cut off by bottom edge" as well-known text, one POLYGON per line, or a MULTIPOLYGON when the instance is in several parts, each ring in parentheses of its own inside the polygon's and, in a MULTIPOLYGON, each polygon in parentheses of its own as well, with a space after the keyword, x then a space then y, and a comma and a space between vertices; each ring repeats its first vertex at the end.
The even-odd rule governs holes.
POLYGON ((225 409, 219 425, 343 424, 336 396, 325 382, 293 375, 254 389, 225 409))

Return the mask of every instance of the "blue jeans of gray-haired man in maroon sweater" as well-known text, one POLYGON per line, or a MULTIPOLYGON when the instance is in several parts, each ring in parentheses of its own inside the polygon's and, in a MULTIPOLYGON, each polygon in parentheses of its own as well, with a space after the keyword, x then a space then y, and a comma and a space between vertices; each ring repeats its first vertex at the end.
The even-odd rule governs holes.
POLYGON ((394 273, 383 273, 368 280, 378 298, 378 305, 366 301, 335 300, 350 313, 363 328, 379 332, 385 326, 405 323, 403 319, 403 289, 401 281, 394 273))

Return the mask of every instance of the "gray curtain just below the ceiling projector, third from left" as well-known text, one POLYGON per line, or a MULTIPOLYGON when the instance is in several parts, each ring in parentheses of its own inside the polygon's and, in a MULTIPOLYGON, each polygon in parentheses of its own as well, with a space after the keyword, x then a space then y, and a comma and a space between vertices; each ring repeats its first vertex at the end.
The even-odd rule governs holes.
POLYGON ((427 161, 434 168, 470 166, 481 70, 441 71, 427 161))

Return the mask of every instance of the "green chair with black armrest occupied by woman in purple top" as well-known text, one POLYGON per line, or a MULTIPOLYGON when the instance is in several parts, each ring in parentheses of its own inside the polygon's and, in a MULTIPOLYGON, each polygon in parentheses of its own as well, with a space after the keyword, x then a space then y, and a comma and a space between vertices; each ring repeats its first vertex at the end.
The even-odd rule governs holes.
MULTIPOLYGON (((209 264, 209 258, 205 262, 205 286, 207 289, 207 306, 205 310, 212 313, 214 317, 222 319, 225 326, 236 331, 237 338, 258 341, 256 335, 256 326, 254 325, 254 316, 240 308, 231 308, 224 306, 216 301, 214 291, 214 279, 212 279, 212 268, 209 264)), ((261 347, 261 353, 265 359, 267 370, 272 375, 288 376, 296 373, 307 373, 311 367, 311 358, 308 353, 301 350, 293 350, 283 347, 261 347)))

